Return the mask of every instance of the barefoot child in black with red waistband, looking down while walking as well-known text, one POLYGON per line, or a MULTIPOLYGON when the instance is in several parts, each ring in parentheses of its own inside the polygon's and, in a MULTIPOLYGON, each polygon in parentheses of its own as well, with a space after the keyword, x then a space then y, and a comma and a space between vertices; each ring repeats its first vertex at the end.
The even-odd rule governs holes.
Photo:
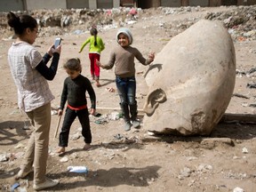
POLYGON ((85 92, 88 92, 91 100, 90 113, 95 114, 96 96, 92 88, 92 84, 88 78, 81 75, 81 63, 79 59, 70 59, 64 64, 63 68, 66 69, 68 77, 64 81, 63 91, 61 94, 60 109, 58 115, 61 116, 66 101, 68 106, 66 109, 64 121, 62 124, 58 153, 64 153, 65 148, 68 147, 68 134, 71 124, 73 124, 76 116, 82 125, 82 135, 84 136, 84 150, 90 148, 92 142, 92 133, 90 129, 89 112, 87 108, 87 100, 85 92))

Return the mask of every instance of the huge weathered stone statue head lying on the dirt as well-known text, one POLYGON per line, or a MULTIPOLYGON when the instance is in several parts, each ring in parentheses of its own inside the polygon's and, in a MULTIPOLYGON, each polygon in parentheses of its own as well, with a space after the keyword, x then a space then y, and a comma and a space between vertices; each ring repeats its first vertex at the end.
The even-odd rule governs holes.
POLYGON ((149 131, 208 135, 228 108, 236 55, 220 21, 199 20, 156 54, 146 76, 149 131))

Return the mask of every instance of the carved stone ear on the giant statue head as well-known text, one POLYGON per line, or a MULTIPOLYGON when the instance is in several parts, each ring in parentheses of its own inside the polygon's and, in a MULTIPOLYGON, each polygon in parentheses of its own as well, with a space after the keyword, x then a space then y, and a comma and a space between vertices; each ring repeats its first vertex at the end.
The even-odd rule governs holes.
POLYGON ((143 111, 152 116, 158 107, 159 103, 163 103, 166 100, 166 94, 162 89, 156 89, 148 93, 146 103, 143 107, 143 111))

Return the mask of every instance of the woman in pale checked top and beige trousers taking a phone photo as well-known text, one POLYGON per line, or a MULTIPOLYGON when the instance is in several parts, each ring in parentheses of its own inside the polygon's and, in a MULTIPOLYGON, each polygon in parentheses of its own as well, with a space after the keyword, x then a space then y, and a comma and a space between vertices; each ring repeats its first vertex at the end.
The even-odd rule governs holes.
MULTIPOLYGON (((47 80, 56 75, 61 46, 51 46, 44 57, 32 46, 38 33, 36 20, 29 15, 7 14, 8 25, 17 36, 8 51, 8 62, 18 89, 19 108, 26 112, 33 132, 28 142, 24 163, 16 179, 25 178, 33 171, 35 190, 51 188, 59 182, 45 177, 51 124, 51 100, 54 99, 47 80), (52 57, 53 56, 53 57, 52 57), (52 58, 48 68, 47 62, 52 58)), ((53 44, 52 44, 53 45, 53 44)))

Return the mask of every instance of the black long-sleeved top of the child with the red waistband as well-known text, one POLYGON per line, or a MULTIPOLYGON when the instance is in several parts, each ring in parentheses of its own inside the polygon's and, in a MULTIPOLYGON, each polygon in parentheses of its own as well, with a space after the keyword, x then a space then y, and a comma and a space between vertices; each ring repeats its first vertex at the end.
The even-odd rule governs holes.
POLYGON ((91 108, 96 108, 96 95, 88 78, 79 75, 75 79, 69 76, 65 79, 60 100, 60 109, 63 110, 68 100, 68 105, 77 108, 87 105, 86 92, 90 95, 91 108))

